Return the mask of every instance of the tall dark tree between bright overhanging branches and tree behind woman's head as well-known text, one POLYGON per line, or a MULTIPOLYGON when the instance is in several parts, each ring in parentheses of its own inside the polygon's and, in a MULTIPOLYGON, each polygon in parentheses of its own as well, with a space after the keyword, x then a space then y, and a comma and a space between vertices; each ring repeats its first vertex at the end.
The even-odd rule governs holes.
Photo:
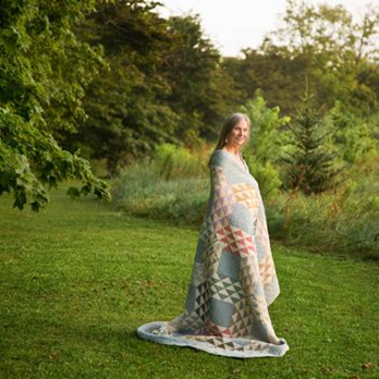
POLYGON ((71 149, 88 147, 90 158, 107 158, 111 172, 175 140, 179 118, 163 100, 170 91, 162 75, 170 35, 155 7, 145 0, 99 3, 76 27, 82 40, 103 47, 107 68, 85 98, 88 120, 65 140, 71 149))

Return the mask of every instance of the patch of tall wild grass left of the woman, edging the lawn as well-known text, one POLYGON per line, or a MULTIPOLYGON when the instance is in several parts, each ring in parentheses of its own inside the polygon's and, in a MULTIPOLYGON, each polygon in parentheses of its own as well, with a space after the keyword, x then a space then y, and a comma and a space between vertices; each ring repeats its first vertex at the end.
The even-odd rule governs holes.
POLYGON ((209 196, 207 161, 162 145, 154 160, 125 168, 113 184, 114 204, 135 216, 199 224, 209 196))

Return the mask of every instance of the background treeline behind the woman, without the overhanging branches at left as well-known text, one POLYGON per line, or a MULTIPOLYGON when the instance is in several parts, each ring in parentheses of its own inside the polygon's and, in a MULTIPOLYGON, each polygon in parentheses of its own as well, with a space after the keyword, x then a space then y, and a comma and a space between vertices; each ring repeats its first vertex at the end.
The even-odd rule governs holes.
POLYGON ((197 16, 163 20, 156 5, 101 4, 75 28, 82 40, 103 47, 107 66, 84 99, 87 122, 62 139, 68 148, 106 157, 113 170, 163 142, 213 140, 225 114, 258 89, 268 107, 293 114, 306 83, 321 112, 337 105, 359 118, 378 111, 378 13, 356 23, 342 7, 289 1, 283 27, 259 49, 225 58, 197 16))

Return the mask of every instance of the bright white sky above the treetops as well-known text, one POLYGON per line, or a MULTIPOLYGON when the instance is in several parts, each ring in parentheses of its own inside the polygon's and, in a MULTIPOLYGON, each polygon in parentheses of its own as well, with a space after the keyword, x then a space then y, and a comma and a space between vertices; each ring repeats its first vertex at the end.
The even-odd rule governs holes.
MULTIPOLYGON (((162 16, 198 13, 205 34, 223 56, 239 56, 242 48, 257 48, 268 32, 279 26, 285 0, 159 0, 162 16)), ((360 19, 368 3, 378 0, 313 0, 314 4, 342 4, 360 19)))

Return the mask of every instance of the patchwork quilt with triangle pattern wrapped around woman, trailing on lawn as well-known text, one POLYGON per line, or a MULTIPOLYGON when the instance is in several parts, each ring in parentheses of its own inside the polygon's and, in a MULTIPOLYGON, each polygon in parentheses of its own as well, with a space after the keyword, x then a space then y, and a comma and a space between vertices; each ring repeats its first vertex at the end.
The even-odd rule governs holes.
POLYGON ((211 192, 184 313, 138 328, 155 342, 231 357, 282 356, 268 306, 279 295, 264 204, 255 179, 224 150, 210 163, 211 192))

